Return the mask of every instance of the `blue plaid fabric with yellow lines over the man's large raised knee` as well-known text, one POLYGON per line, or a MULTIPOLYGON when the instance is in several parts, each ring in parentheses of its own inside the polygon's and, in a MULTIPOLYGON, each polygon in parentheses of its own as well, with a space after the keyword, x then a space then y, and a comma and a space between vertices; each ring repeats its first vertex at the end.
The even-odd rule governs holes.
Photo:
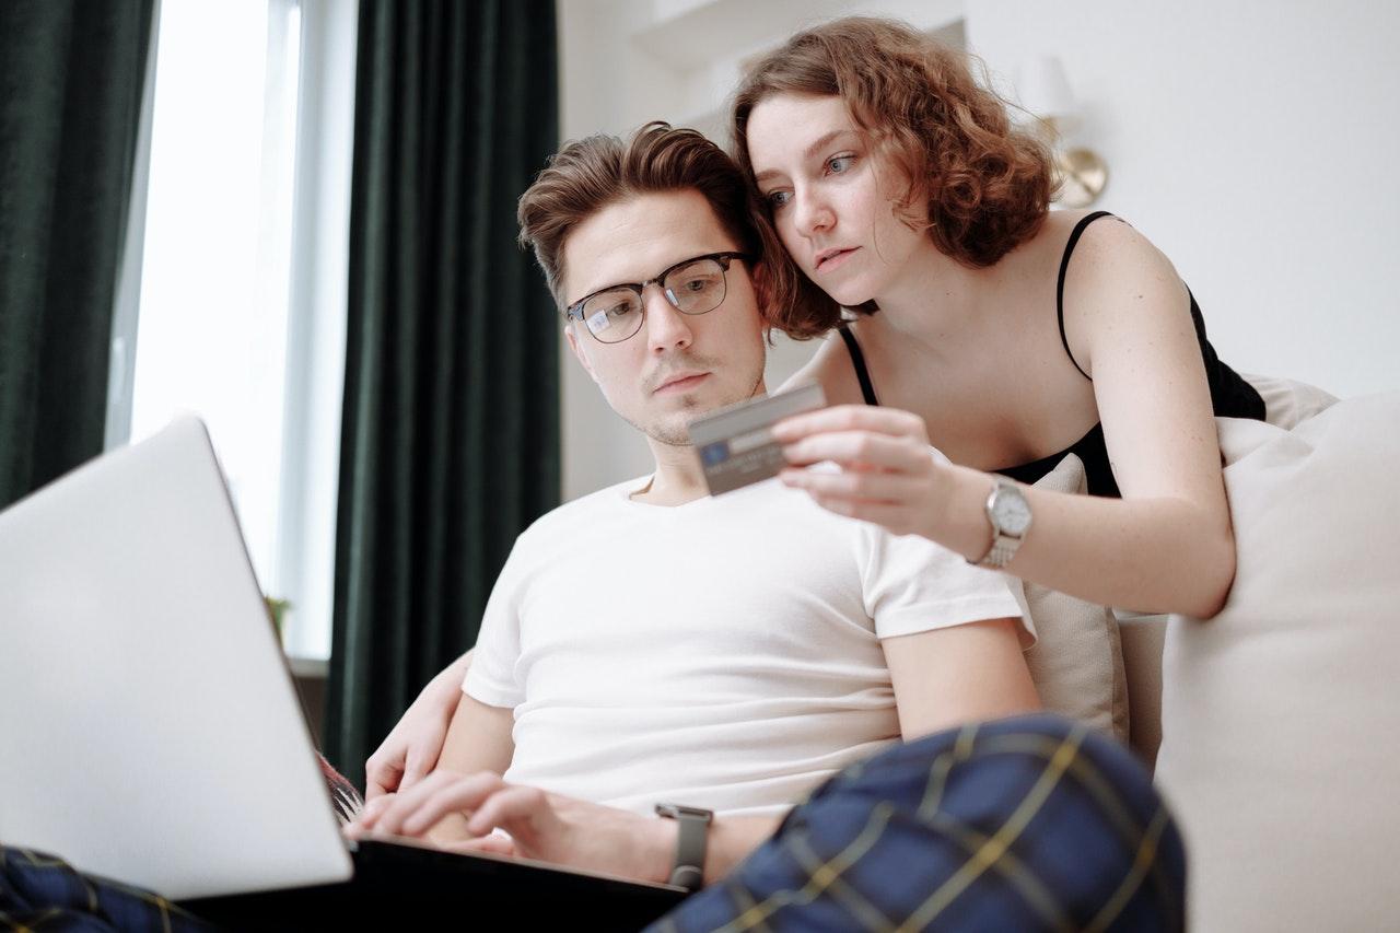
POLYGON ((1182 836, 1142 765, 1029 716, 847 768, 648 930, 1180 930, 1184 897, 1182 836))

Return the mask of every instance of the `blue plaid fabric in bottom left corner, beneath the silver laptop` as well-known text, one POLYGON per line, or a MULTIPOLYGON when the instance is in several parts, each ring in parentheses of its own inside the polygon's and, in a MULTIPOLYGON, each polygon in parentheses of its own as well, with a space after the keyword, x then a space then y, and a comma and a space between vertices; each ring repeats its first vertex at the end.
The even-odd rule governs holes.
POLYGON ((78 874, 62 859, 0 846, 0 930, 203 933, 203 920, 165 898, 78 874))

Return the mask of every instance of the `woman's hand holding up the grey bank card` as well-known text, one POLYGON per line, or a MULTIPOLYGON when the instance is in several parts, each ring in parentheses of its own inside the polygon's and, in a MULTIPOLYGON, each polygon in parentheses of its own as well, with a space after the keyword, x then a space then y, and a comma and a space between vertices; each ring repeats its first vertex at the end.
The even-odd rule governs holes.
POLYGON ((872 521, 896 535, 937 539, 949 471, 935 459, 917 415, 869 405, 837 405, 773 426, 792 464, 780 474, 823 509, 872 521), (840 472, 799 469, 832 461, 840 472))

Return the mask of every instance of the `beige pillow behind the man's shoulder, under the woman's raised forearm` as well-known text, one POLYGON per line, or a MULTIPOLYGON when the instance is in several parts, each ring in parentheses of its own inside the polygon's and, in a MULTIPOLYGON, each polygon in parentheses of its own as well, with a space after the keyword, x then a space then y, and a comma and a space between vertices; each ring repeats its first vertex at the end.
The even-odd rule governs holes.
MULTIPOLYGON (((1037 489, 1084 493, 1084 464, 1074 454, 1035 483, 1037 489)), ((1050 712, 1127 741, 1128 689, 1123 647, 1112 609, 1015 577, 1012 591, 1036 629, 1026 651, 1030 679, 1050 712)))

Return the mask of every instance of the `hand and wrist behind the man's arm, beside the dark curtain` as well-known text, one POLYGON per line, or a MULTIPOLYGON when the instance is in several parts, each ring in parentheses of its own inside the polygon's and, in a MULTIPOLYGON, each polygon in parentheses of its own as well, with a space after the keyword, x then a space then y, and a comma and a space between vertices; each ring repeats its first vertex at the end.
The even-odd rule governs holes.
POLYGON ((407 790, 437 766, 448 723, 462 698, 468 651, 434 677, 364 765, 364 799, 407 790))

